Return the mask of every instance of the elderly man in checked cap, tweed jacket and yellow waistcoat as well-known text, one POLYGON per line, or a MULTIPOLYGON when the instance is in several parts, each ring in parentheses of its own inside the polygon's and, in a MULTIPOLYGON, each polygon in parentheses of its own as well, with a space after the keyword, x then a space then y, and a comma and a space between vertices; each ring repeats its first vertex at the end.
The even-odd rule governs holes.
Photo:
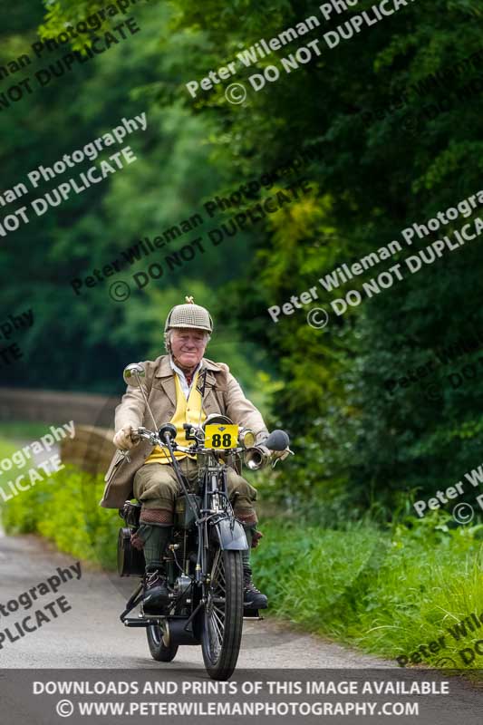
MULTIPOLYGON (((263 443, 268 431, 262 415, 246 399, 228 366, 224 362, 212 362, 203 357, 213 332, 208 310, 194 304, 192 297, 186 300, 186 304, 177 304, 168 314, 164 328, 168 354, 160 355, 154 361, 143 362, 154 417, 158 422, 170 421, 176 426, 176 443, 180 446, 189 445, 183 424, 200 425, 212 413, 227 415, 240 426, 253 430, 256 444, 263 443)), ((152 428, 140 390, 128 386, 121 404, 116 408, 117 432, 113 439, 116 447, 134 449, 138 446, 139 440, 136 440, 133 431, 146 424, 152 428)), ((147 445, 148 449, 142 443, 140 451, 133 451, 130 464, 120 471, 119 478, 112 478, 120 462, 114 457, 106 475, 108 485, 101 506, 122 507, 127 498, 132 498, 132 490, 141 503, 140 528, 132 543, 144 549, 144 609, 153 611, 168 601, 163 556, 171 535, 179 482, 167 454, 160 448, 152 449, 147 445)), ((179 450, 175 451, 175 456, 189 485, 193 485, 197 479, 196 459, 179 450)), ((248 546, 256 546, 261 536, 256 531, 256 489, 232 468, 228 469, 227 489, 235 516, 245 529, 248 546)), ((249 549, 243 552, 243 570, 244 606, 266 608, 266 595, 252 581, 249 549)))

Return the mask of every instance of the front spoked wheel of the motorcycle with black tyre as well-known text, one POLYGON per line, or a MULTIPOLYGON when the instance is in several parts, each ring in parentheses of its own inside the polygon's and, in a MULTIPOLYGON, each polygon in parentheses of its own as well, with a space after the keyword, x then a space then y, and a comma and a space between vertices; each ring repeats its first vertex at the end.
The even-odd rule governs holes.
POLYGON ((237 666, 243 628, 241 551, 212 551, 207 594, 201 635, 203 660, 213 680, 227 680, 237 666))

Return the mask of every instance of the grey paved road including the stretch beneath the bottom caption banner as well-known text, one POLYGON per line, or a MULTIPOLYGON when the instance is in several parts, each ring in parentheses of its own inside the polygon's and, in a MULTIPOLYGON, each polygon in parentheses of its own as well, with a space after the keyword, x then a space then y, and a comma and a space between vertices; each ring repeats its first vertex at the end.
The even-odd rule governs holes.
MULTIPOLYGON (((72 556, 59 554, 35 536, 10 537, 0 534, 0 604, 5 606, 11 600, 18 600, 21 594, 28 592, 34 586, 39 589, 41 583, 56 574, 57 567, 67 569, 75 564, 72 556)), ((63 583, 56 594, 39 596, 31 608, 24 610, 22 607, 13 614, 0 615, 0 638, 5 628, 9 628, 14 637, 14 623, 24 622, 27 614, 34 614, 35 610, 40 610, 55 598, 65 597, 63 602, 67 601, 70 607, 63 614, 55 610, 57 617, 48 610, 50 621, 43 621, 42 626, 23 637, 17 633, 19 638, 14 642, 10 642, 8 637, 2 642, 0 699, 3 701, 4 710, 14 715, 12 721, 18 722, 19 725, 24 723, 52 725, 53 721, 62 721, 53 714, 59 695, 41 697, 33 695, 32 681, 42 681, 45 677, 47 681, 72 679, 76 682, 88 680, 105 682, 115 681, 116 678, 131 681, 132 678, 140 680, 148 677, 153 680, 154 675, 155 681, 177 682, 179 691, 183 682, 196 683, 208 680, 199 647, 180 647, 175 662, 169 664, 155 662, 150 657, 144 630, 125 628, 120 623, 119 614, 135 579, 120 579, 117 575, 103 573, 92 565, 91 567, 82 565, 81 571, 80 579, 76 579, 76 575, 73 574, 72 579, 63 583), (21 672, 24 668, 29 669, 21 672), (74 673, 75 670, 77 672, 74 673), (96 671, 100 672, 99 676, 95 674, 96 671), (69 672, 72 672, 71 676, 69 672)), ((64 576, 67 578, 67 575, 64 576)), ((25 599, 23 602, 25 603, 25 599)), ((34 619, 35 615, 32 621, 34 619)), ((251 681, 253 678, 274 681, 355 680, 360 683, 360 691, 364 681, 389 679, 411 683, 420 680, 438 682, 445 679, 438 673, 431 672, 429 675, 428 672, 402 671, 394 667, 392 662, 384 662, 338 644, 324 642, 320 638, 298 633, 288 626, 267 620, 245 623, 236 677, 239 677, 240 681, 243 679, 251 681), (244 674, 244 670, 250 670, 253 675, 244 674), (273 677, 267 676, 266 670, 273 672, 273 677), (306 672, 306 675, 303 672, 306 672)), ((344 700, 344 696, 337 694, 331 697, 332 701, 344 700)), ((354 699, 351 695, 347 697, 349 701, 354 699)), ((355 698, 356 701, 374 701, 375 696, 355 696, 355 698)), ((126 700, 126 698, 117 698, 120 699, 126 700)), ((188 699, 192 700, 193 696, 188 699)), ((304 697, 304 700, 306 699, 307 696, 304 697)), ((92 698, 88 697, 87 700, 92 698)), ((181 701, 183 700, 186 701, 186 698, 181 698, 181 701)), ((292 701, 294 698, 288 700, 292 701)), ((321 698, 319 695, 315 696, 315 700, 329 701, 329 698, 327 696, 321 698)), ((340 718, 330 717, 327 720, 344 725, 360 725, 361 722, 374 722, 378 725, 404 722, 415 722, 418 725, 455 725, 457 722, 482 725, 483 723, 481 694, 465 682, 451 681, 449 695, 446 696, 403 698, 397 694, 389 694, 380 696, 379 702, 383 701, 419 702, 420 714, 418 717, 364 717, 362 720, 351 714, 340 718)), ((376 714, 381 715, 380 712, 376 714)), ((159 721, 159 715, 143 718, 145 722, 150 720, 159 721)), ((206 725, 215 722, 206 717, 202 720, 206 725)), ((241 725, 246 722, 246 718, 230 717, 225 720, 227 725, 231 723, 241 725)), ((255 720, 264 722, 266 718, 255 720)), ((285 720, 285 725, 298 725, 301 721, 312 725, 320 721, 320 715, 307 718, 289 716, 282 720, 285 720)), ((72 725, 85 722, 102 722, 103 725, 110 725, 111 722, 119 723, 117 717, 105 716, 74 715, 68 721, 72 725)), ((176 717, 165 718, 165 721, 188 725, 196 720, 176 717)))

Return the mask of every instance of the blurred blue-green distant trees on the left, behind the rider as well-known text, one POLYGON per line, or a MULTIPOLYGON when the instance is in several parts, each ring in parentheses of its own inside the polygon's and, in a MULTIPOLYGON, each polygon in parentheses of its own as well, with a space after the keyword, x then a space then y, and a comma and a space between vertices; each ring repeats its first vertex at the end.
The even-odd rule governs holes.
MULTIPOLYGON (((56 63, 69 46, 34 58, 30 45, 38 37, 30 5, 27 0, 18 5, 18 12, 23 14, 23 34, 17 33, 16 19, 5 20, 0 64, 28 52, 33 63, 27 68, 34 74, 40 67, 56 63)), ((78 22, 103 6, 102 2, 70 0, 46 4, 40 31, 43 40, 56 38, 65 23, 78 22)), ((127 362, 164 352, 161 330, 169 305, 192 294, 199 304, 210 306, 213 314, 226 310, 226 300, 222 302, 218 290, 233 277, 234 270, 235 274, 241 273, 247 265, 242 244, 230 249, 231 265, 227 267, 225 253, 207 240, 205 254, 180 269, 169 269, 163 261, 166 256, 217 226, 216 218, 209 227, 204 218, 199 233, 179 237, 132 266, 123 266, 120 275, 111 277, 131 285, 128 302, 111 300, 111 279, 105 277, 95 287, 84 285, 80 295, 72 290, 72 279, 84 280, 94 269, 102 270, 112 260, 122 260, 122 252, 140 239, 162 235, 202 211, 202 204, 215 195, 226 173, 223 166, 217 168, 210 163, 212 146, 208 138, 214 134, 212 121, 193 116, 178 101, 167 107, 159 103, 162 79, 168 78, 173 64, 184 57, 183 42, 169 32, 169 8, 143 4, 134 7, 133 14, 140 33, 112 45, 109 52, 96 55, 88 63, 74 64, 71 73, 54 78, 40 90, 36 88, 1 114, 0 160, 5 189, 24 180, 40 165, 52 167, 63 154, 82 149, 119 125, 123 117, 133 118, 145 111, 148 118, 147 131, 133 133, 123 144, 130 145, 137 157, 135 163, 82 194, 72 195, 60 207, 49 208, 30 225, 12 233, 2 245, 5 316, 28 308, 34 312, 33 327, 18 333, 15 339, 24 357, 9 368, 5 384, 121 392, 120 372, 127 362), (29 120, 27 127, 24 119, 29 120), (16 152, 12 153, 12 149, 16 152), (137 290, 132 275, 145 272, 153 263, 163 266, 163 276, 151 279, 146 289, 137 290)), ((109 24, 121 19, 125 18, 118 14, 109 24)), ((40 21, 41 15, 36 16, 36 22, 40 21)), ((87 36, 84 39, 88 41, 87 36)), ((4 83, 10 84, 15 78, 13 75, 4 83)), ((32 190, 23 201, 43 196, 69 178, 79 180, 80 171, 99 165, 119 148, 103 150, 97 160, 43 183, 37 193, 32 190)), ((19 200, 12 208, 20 206, 19 200)), ((215 353, 226 356, 234 372, 251 386, 256 371, 267 367, 266 355, 255 349, 254 343, 242 349, 238 347, 240 342, 240 333, 234 330, 231 320, 218 313, 213 347, 218 345, 219 350, 215 349, 215 353)), ((258 396, 259 401, 262 399, 263 392, 258 396)))

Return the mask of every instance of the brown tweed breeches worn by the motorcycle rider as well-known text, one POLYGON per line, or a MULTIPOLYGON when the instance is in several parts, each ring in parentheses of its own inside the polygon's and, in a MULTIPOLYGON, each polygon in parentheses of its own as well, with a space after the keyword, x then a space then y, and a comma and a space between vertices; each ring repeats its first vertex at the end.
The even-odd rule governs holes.
MULTIPOLYGON (((179 468, 193 488, 198 478, 196 460, 180 459, 179 468)), ((169 526, 173 522, 175 500, 182 493, 173 467, 168 463, 145 463, 134 477, 134 496, 141 503, 140 523, 169 526)), ((257 522, 254 502, 256 488, 227 469, 228 498, 239 521, 246 525, 257 522)))

